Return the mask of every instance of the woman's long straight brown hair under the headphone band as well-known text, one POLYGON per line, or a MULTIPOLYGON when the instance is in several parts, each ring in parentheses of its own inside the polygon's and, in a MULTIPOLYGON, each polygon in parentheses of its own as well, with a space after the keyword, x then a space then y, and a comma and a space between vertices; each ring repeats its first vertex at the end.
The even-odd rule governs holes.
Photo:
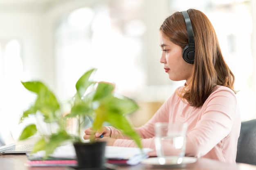
MULTIPOLYGON (((178 95, 190 105, 201 107, 216 85, 234 90, 234 74, 222 56, 216 32, 207 16, 196 9, 188 10, 195 39, 195 61, 191 82, 178 95)), ((164 20, 160 31, 173 43, 184 48, 188 35, 182 13, 175 12, 164 20)))

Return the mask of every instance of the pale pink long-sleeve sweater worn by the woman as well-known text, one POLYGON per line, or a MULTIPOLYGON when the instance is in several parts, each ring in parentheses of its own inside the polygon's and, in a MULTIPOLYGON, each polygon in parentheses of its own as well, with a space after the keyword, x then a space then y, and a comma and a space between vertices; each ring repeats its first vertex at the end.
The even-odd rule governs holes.
MULTIPOLYGON (((177 90, 180 90, 179 87, 177 90)), ((174 93, 143 126, 136 128, 142 145, 152 148, 156 156, 154 124, 156 122, 186 122, 186 156, 216 159, 225 163, 236 162, 237 142, 240 134, 240 110, 234 92, 217 85, 202 107, 182 102, 174 93)), ((113 127, 111 137, 118 138, 114 146, 136 147, 134 141, 113 127)))

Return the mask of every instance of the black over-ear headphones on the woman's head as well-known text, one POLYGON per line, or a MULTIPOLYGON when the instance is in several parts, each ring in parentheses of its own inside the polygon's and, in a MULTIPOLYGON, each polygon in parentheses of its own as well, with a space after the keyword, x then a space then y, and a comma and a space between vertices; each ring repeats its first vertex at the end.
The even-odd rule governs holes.
POLYGON ((186 45, 186 47, 184 47, 182 51, 182 57, 187 63, 193 64, 195 60, 195 40, 193 28, 188 11, 181 11, 181 13, 183 14, 186 23, 186 31, 188 32, 189 36, 189 45, 186 45))

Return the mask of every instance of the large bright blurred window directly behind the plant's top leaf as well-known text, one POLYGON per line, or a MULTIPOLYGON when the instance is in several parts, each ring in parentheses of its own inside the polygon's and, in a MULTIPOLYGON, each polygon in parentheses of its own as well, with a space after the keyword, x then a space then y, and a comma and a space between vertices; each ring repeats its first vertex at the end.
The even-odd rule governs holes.
MULTIPOLYGON (((135 14, 142 7, 130 5, 135 14)), ((139 15, 130 15, 122 7, 97 4, 76 9, 60 20, 56 29, 56 86, 61 98, 72 96, 74 83, 92 67, 98 69, 97 80, 115 83, 119 92, 130 95, 145 85, 140 56, 146 26, 139 15)))

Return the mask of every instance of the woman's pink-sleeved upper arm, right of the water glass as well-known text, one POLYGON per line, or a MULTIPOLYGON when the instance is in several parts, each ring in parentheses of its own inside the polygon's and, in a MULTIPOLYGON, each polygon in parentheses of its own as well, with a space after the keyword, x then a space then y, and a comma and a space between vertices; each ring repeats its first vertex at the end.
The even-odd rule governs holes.
POLYGON ((215 154, 224 153, 226 147, 237 142, 240 113, 234 92, 227 88, 213 92, 202 106, 201 114, 187 134, 187 156, 202 157, 214 147, 215 154))

